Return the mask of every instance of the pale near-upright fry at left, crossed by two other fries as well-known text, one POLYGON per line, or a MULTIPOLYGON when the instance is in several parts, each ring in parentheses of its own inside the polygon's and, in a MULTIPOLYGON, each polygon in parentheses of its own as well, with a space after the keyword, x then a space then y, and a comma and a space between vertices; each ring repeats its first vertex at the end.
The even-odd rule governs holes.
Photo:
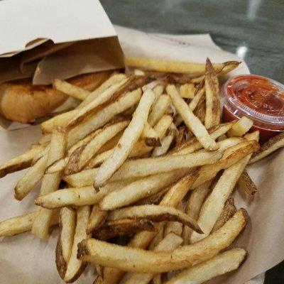
MULTIPOLYGON (((50 151, 48 154, 48 165, 54 163, 55 160, 62 158, 65 155, 66 148, 66 132, 64 129, 58 127, 53 131, 53 136, 50 141, 50 151)), ((45 174, 43 182, 40 187, 40 195, 46 195, 50 192, 58 190, 59 182, 61 180, 61 173, 45 174)), ((48 229, 50 226, 50 219, 52 211, 42 207, 38 207, 37 214, 33 221, 32 233, 36 236, 45 238, 48 236, 48 229)))

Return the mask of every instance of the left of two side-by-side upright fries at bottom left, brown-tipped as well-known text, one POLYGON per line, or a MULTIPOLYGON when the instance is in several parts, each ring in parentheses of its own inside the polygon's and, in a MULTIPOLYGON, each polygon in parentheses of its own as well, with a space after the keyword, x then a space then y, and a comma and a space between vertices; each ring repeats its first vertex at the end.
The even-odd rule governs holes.
POLYGON ((71 256, 76 226, 76 212, 64 207, 60 210, 61 232, 55 249, 55 263, 58 273, 63 279, 67 269, 67 263, 71 256))

